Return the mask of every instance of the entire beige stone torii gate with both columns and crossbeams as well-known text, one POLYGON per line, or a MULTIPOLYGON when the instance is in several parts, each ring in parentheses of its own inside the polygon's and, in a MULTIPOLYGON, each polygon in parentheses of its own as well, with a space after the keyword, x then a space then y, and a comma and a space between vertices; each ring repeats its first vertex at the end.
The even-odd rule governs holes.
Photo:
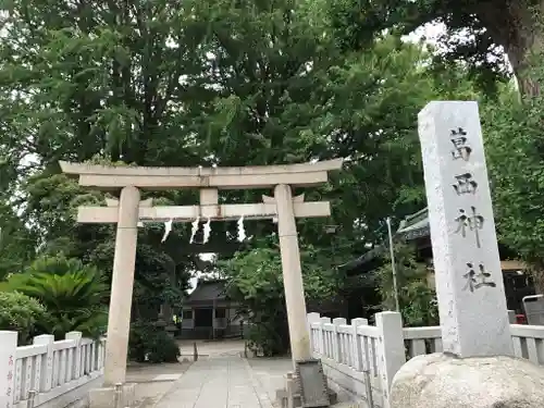
POLYGON ((323 184, 327 172, 342 168, 342 159, 316 163, 242 168, 103 166, 60 162, 62 171, 78 176, 79 185, 100 190, 121 190, 107 207, 79 207, 81 223, 116 223, 106 347, 104 385, 125 383, 128 332, 139 222, 194 222, 195 220, 277 219, 285 299, 293 360, 311 358, 306 322, 306 301, 300 268, 296 218, 329 217, 326 201, 305 202, 293 197, 292 186, 323 184), (198 188, 200 205, 153 207, 140 200, 140 189, 198 188), (273 188, 259 203, 218 202, 219 189, 273 188))

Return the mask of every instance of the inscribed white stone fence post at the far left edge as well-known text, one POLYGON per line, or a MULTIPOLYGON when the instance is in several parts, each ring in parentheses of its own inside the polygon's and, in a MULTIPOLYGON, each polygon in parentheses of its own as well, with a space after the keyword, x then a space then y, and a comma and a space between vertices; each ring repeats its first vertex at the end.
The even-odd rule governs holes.
POLYGON ((0 403, 12 408, 15 393, 17 332, 0 331, 0 403))

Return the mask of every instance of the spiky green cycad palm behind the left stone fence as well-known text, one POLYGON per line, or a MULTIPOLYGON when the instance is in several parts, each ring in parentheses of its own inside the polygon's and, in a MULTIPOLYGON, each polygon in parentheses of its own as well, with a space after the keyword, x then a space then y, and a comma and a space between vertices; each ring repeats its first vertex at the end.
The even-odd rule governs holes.
POLYGON ((0 288, 39 300, 47 313, 37 325, 57 338, 71 331, 97 336, 104 329, 108 285, 96 268, 77 259, 40 258, 23 273, 11 275, 0 288))

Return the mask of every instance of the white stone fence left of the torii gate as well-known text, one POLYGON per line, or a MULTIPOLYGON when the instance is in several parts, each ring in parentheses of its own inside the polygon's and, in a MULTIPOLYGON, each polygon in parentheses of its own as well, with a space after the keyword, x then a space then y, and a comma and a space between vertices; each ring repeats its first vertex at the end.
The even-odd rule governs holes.
POLYGON ((17 347, 17 333, 0 331, 0 408, 62 408, 86 403, 88 391, 101 385, 106 341, 67 333, 34 337, 17 347))

